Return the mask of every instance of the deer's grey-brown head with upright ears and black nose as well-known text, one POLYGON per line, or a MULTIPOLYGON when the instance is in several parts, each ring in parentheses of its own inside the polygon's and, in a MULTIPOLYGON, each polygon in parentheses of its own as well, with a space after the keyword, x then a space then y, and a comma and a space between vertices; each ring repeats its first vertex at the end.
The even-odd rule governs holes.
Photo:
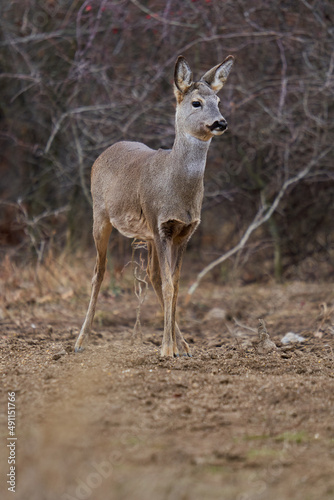
POLYGON ((233 65, 233 56, 193 82, 192 71, 183 56, 175 64, 174 93, 177 100, 176 127, 201 141, 221 135, 227 122, 219 111, 217 93, 224 86, 233 65))

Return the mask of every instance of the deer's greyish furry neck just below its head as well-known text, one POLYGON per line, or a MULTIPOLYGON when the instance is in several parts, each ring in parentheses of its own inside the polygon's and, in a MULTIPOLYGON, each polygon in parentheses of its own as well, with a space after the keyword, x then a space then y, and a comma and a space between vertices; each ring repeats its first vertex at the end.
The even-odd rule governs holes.
POLYGON ((171 151, 173 168, 187 177, 202 179, 205 171, 209 141, 201 141, 189 134, 176 130, 174 145, 171 151))

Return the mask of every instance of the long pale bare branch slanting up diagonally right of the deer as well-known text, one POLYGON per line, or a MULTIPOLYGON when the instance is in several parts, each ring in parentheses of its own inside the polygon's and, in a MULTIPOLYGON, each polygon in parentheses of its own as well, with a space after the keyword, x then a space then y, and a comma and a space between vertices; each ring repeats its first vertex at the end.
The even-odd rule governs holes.
POLYGON ((324 158, 332 149, 333 149, 333 146, 330 146, 329 148, 327 148, 319 156, 317 156, 316 158, 314 158, 313 160, 311 160, 308 163, 308 165, 303 170, 301 170, 297 175, 295 175, 294 177, 291 177, 291 179, 288 179, 288 180, 286 180, 283 183, 283 185, 282 185, 279 193, 276 195, 276 198, 274 199, 274 201, 270 205, 270 207, 262 206, 260 208, 260 210, 257 212, 256 216, 253 219, 253 222, 250 224, 250 226, 248 226, 247 230, 245 231, 244 235, 240 239, 239 243, 235 247, 231 248, 231 250, 229 250, 228 252, 224 253, 220 257, 218 257, 218 259, 216 259, 213 262, 211 262, 210 264, 208 264, 197 275, 196 281, 188 289, 187 296, 186 296, 186 299, 185 299, 186 304, 189 303, 189 301, 191 299, 191 296, 193 295, 193 293, 197 289, 198 285, 200 284, 200 282, 204 278, 204 276, 206 274, 208 274, 208 272, 210 272, 214 267, 218 266, 218 264, 221 264, 225 260, 227 260, 230 257, 232 257, 232 255, 234 255, 235 253, 237 253, 239 250, 242 250, 243 247, 245 246, 245 244, 247 243, 250 235, 258 227, 262 226, 262 224, 264 224, 265 222, 267 222, 270 219, 270 217, 273 215, 273 213, 277 209, 280 201, 282 200, 283 196, 285 195, 287 189, 292 184, 295 184, 296 182, 298 182, 301 179, 303 179, 304 177, 306 177, 308 175, 308 173, 310 172, 310 170, 312 169, 312 167, 314 167, 314 165, 316 165, 322 158, 324 158))

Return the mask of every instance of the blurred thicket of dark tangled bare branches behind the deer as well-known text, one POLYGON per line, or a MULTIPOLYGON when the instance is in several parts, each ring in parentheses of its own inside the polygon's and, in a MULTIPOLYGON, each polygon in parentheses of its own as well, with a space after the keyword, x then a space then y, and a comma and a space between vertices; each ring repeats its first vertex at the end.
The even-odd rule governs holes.
MULTIPOLYGON (((232 54, 229 129, 209 150, 185 266, 232 248, 309 167, 211 279, 232 268, 244 283, 334 277, 332 0, 17 0, 1 2, 0 23, 1 258, 93 256, 94 160, 124 139, 171 148, 177 56, 199 78, 232 54)), ((111 240, 122 268, 131 242, 111 240)))

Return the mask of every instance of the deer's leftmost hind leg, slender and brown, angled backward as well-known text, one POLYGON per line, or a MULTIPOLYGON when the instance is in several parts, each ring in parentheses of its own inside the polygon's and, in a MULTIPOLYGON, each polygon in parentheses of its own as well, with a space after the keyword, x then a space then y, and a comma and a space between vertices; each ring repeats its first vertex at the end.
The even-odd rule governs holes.
POLYGON ((112 225, 110 224, 108 219, 103 219, 102 221, 99 219, 94 219, 93 236, 97 251, 96 264, 92 279, 92 291, 91 291, 90 302, 85 321, 82 325, 80 334, 75 343, 75 348, 74 348, 75 352, 80 352, 83 350, 83 343, 84 341, 88 340, 92 328, 92 323, 96 308, 96 301, 99 295, 101 283, 103 281, 103 276, 106 266, 107 247, 111 229, 112 225))

